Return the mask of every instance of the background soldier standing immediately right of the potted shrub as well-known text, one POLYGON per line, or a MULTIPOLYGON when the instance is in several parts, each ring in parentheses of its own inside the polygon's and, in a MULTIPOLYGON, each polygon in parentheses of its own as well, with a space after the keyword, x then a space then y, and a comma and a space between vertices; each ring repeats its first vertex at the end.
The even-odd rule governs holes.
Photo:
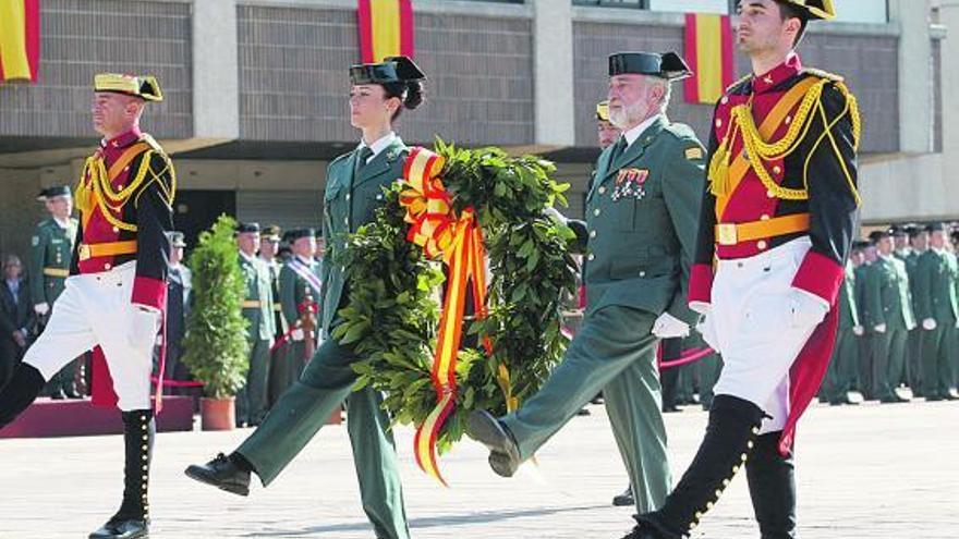
POLYGON ((276 333, 270 271, 256 256, 260 246, 259 223, 240 223, 236 226, 236 246, 246 289, 243 318, 248 322, 246 342, 250 344, 246 384, 236 395, 236 425, 256 427, 267 412, 269 351, 276 333))

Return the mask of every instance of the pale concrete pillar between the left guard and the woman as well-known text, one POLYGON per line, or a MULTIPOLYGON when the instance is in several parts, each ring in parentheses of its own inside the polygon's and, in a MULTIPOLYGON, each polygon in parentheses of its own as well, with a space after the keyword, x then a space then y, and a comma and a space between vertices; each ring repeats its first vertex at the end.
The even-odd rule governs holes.
POLYGON ((240 137, 236 0, 193 2, 193 136, 240 137))

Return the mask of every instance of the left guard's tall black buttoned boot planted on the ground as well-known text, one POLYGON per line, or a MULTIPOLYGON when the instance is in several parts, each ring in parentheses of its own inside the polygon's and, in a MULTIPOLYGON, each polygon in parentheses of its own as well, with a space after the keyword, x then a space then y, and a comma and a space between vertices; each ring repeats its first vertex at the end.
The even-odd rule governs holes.
POLYGON ((150 409, 123 413, 123 503, 120 511, 89 539, 141 539, 149 537, 149 463, 156 422, 150 409))

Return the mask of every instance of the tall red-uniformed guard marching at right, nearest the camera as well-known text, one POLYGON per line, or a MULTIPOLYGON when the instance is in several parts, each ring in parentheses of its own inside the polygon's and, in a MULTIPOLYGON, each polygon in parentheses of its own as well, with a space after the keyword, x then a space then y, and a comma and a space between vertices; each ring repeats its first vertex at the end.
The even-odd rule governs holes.
POLYGON ((754 75, 716 106, 690 306, 723 354, 706 433, 666 503, 627 538, 688 537, 745 466, 763 539, 796 536, 792 441, 836 336, 859 206, 855 99, 793 52, 830 0, 741 0, 754 75))

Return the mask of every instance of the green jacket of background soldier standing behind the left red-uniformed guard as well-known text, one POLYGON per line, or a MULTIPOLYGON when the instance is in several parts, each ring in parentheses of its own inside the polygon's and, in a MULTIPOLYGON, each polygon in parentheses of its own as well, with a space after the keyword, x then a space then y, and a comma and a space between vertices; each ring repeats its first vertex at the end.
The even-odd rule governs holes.
POLYGON ((71 218, 66 229, 52 218, 41 221, 31 238, 29 283, 34 305, 53 305, 63 292, 63 282, 70 273, 73 243, 76 241, 76 219, 71 218), (62 275, 45 274, 58 272, 62 275))

